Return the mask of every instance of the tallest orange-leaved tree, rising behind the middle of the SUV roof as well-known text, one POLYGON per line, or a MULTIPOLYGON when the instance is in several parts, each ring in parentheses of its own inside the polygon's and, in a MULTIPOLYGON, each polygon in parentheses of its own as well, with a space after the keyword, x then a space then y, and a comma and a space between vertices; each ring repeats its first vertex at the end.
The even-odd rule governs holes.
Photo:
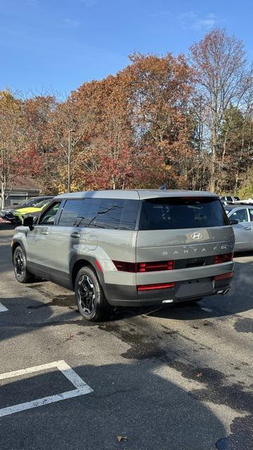
MULTIPOLYGON (((132 123, 138 167, 148 172, 148 183, 188 186, 194 157, 190 146, 192 123, 189 101, 193 72, 183 56, 134 54, 129 72, 132 123)), ((141 174, 140 174, 141 175, 141 174)))

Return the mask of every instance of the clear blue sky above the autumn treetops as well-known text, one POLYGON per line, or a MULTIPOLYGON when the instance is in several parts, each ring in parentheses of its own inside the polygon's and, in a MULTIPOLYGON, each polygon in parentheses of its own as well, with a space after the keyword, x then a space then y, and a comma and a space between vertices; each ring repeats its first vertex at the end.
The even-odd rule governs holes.
POLYGON ((128 63, 128 55, 186 53, 212 27, 245 41, 252 0, 1 0, 0 89, 66 95, 128 63))

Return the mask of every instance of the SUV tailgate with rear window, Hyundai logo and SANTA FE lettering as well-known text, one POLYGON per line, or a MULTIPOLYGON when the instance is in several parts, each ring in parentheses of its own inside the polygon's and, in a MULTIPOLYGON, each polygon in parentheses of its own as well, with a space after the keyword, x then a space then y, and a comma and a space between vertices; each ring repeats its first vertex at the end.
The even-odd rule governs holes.
POLYGON ((136 262, 143 270, 136 274, 137 285, 169 281, 171 271, 173 281, 219 274, 217 263, 231 261, 233 245, 233 228, 218 197, 143 200, 136 238, 136 262))

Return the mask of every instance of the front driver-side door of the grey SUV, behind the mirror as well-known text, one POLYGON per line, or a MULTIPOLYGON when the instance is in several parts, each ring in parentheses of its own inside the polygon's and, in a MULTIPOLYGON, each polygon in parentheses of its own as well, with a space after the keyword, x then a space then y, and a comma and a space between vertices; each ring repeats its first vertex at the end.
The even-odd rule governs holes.
POLYGON ((49 278, 48 262, 53 257, 50 233, 55 226, 61 200, 54 201, 41 214, 34 228, 27 231, 27 265, 32 272, 49 278))

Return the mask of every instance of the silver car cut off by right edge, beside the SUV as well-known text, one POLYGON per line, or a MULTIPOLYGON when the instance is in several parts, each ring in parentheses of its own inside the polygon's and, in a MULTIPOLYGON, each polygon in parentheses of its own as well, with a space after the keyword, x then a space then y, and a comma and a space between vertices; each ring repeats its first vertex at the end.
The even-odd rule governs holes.
POLYGON ((224 208, 228 219, 238 222, 233 224, 235 252, 253 250, 253 205, 228 205, 224 208))

